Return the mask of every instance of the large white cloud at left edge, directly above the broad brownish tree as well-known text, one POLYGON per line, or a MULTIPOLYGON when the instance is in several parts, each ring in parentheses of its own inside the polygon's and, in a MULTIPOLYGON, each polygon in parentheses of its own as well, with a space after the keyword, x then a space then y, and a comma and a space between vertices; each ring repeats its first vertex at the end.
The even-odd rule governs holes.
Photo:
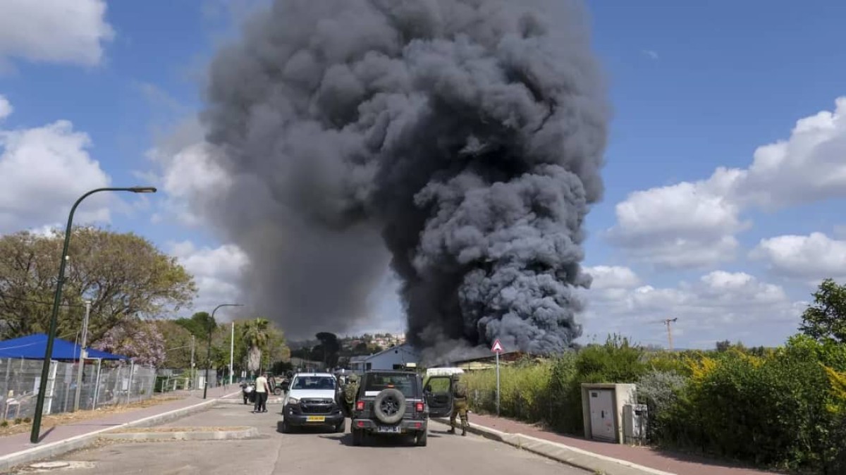
MULTIPOLYGON (((63 222, 70 206, 91 188, 109 184, 88 155, 87 134, 60 120, 38 128, 0 129, 0 232, 63 222)), ((107 194, 80 205, 75 223, 108 221, 107 194)))

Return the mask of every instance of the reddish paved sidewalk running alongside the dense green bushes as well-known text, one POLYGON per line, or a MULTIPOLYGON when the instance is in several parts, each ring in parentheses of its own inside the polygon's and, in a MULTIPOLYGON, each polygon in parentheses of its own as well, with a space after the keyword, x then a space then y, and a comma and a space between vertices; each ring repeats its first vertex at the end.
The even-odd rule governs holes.
POLYGON ((705 457, 675 454, 649 447, 633 447, 570 437, 539 429, 529 423, 476 413, 470 414, 470 426, 474 425, 497 429, 509 434, 525 434, 537 439, 587 450, 600 456, 629 461, 662 472, 678 473, 678 475, 772 475, 772 472, 737 467, 728 463, 711 461, 705 457))

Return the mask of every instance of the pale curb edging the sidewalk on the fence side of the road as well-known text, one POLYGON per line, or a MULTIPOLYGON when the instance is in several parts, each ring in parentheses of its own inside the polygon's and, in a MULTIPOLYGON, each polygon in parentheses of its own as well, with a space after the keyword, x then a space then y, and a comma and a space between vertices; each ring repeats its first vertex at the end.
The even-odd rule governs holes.
POLYGON ((0 472, 8 472, 12 468, 25 463, 61 456, 69 451, 82 449, 87 445, 91 445, 91 443, 95 442, 102 434, 112 430, 130 429, 136 427, 142 428, 161 423, 168 423, 196 412, 205 411, 216 402, 217 399, 209 399, 193 406, 180 407, 179 409, 173 409, 173 411, 163 412, 162 414, 138 419, 137 421, 120 424, 114 427, 107 427, 106 429, 98 429, 93 432, 89 432, 88 434, 74 435, 74 437, 69 439, 57 440, 56 442, 32 447, 31 449, 20 450, 19 452, 14 452, 14 454, 8 454, 8 456, 0 457, 0 472))

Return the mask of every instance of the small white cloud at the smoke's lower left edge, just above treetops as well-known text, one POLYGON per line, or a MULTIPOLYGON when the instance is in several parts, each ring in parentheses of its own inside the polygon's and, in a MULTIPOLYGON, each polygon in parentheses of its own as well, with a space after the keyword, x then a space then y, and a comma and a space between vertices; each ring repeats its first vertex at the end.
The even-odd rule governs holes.
MULTIPOLYGON (((199 294, 193 310, 211 312, 220 303, 237 303, 244 267, 250 259, 233 244, 217 248, 198 248, 190 241, 171 243, 169 254, 175 256, 195 279, 199 294)), ((216 317, 233 312, 221 308, 216 317)))

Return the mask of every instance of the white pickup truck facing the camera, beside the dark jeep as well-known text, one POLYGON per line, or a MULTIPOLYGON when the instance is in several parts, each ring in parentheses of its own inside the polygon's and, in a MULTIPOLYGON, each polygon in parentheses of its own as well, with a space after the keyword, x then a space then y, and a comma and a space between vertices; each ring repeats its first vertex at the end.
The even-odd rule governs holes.
POLYGON ((332 427, 343 433, 346 419, 338 405, 338 386, 331 373, 294 374, 283 401, 282 432, 299 427, 332 427))

